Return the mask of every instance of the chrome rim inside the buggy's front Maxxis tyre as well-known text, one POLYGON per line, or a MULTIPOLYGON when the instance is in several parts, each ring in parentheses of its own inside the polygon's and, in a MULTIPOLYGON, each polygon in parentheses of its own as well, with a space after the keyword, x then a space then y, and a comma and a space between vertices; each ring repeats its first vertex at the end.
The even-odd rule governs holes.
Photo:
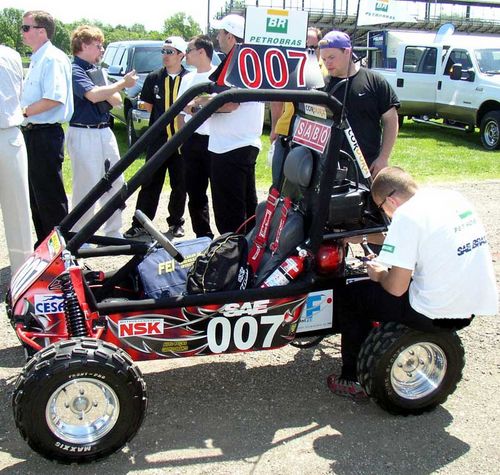
POLYGON ((45 409, 50 430, 65 442, 89 444, 104 437, 116 424, 120 403, 102 381, 78 378, 52 394, 45 409))

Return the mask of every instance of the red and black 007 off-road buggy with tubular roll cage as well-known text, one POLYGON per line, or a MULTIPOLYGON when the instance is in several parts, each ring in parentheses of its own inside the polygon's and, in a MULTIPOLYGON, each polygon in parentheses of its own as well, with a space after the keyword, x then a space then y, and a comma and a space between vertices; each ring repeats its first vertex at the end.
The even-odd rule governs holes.
MULTIPOLYGON (((343 240, 383 231, 388 223, 370 200, 362 157, 347 158, 359 176, 354 181, 339 167, 348 129, 342 105, 318 91, 220 92, 220 86, 202 84, 180 97, 12 279, 8 316, 28 355, 15 385, 14 417, 22 437, 44 457, 89 462, 119 450, 136 434, 148 396, 134 361, 312 344, 338 332, 339 290, 366 278, 362 260, 346 255, 343 240), (219 93, 81 231, 70 231, 151 137, 192 98, 213 92, 219 93), (203 121, 228 102, 248 101, 290 101, 300 109, 253 283, 242 290, 198 294, 172 295, 167 289, 152 297, 139 267, 164 252, 164 267, 174 268, 186 257, 179 251, 181 245, 144 217, 152 243, 95 233, 203 121), (283 215, 288 215, 286 222, 283 215), (265 284, 287 258, 299 255, 304 268, 294 279, 265 284), (91 258, 106 256, 129 257, 111 272, 90 267, 91 258), (311 299, 326 309, 318 321, 319 314, 305 311, 311 299)), ((351 140, 355 145, 352 134, 351 140)), ((250 247, 268 209, 269 200, 259 205, 254 229, 246 236, 250 247)), ((358 375, 371 399, 385 410, 419 414, 446 400, 463 365, 463 348, 453 331, 422 333, 400 324, 374 324, 359 355, 358 375)))

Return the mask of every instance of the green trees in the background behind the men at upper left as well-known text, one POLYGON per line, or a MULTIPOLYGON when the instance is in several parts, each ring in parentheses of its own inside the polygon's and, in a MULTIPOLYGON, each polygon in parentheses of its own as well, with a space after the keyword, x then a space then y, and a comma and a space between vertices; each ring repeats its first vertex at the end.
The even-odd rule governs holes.
MULTIPOLYGON (((0 44, 14 48, 21 56, 27 56, 31 51, 22 41, 21 25, 24 13, 23 10, 17 8, 4 8, 0 12, 0 44)), ((99 27, 104 33, 106 45, 112 41, 123 40, 164 40, 166 37, 173 35, 189 39, 202 33, 200 25, 193 17, 182 12, 165 19, 161 31, 147 31, 144 25, 139 23, 132 26, 113 26, 86 18, 72 23, 63 23, 58 19, 55 19, 55 21, 56 32, 52 43, 67 54, 70 54, 71 32, 77 26, 85 24, 99 27)))

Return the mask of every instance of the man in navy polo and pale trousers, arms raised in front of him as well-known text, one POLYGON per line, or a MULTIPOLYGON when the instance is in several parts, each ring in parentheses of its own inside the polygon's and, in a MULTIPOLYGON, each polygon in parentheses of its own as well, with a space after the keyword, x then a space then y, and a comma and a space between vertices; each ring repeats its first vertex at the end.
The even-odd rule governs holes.
MULTIPOLYGON (((103 42, 102 31, 93 26, 80 26, 71 35, 75 112, 69 123, 66 146, 73 170, 73 207, 104 176, 106 162, 112 167, 120 159, 116 138, 109 128, 109 110, 122 103, 119 91, 134 86, 137 81, 135 71, 131 71, 113 84, 106 84, 104 76, 101 76, 101 84, 96 84, 99 70, 95 65, 102 59, 103 42)), ((104 205, 123 182, 123 176, 115 180, 99 204, 104 205)), ((79 231, 93 214, 92 206, 73 230, 79 231)), ((104 224, 102 231, 108 237, 122 237, 121 225, 121 211, 118 210, 104 224)))

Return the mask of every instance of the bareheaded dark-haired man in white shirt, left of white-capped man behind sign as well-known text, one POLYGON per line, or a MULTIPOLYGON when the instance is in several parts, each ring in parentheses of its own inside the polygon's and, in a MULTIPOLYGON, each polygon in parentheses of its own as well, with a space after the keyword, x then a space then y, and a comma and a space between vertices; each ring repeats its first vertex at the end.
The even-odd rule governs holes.
MULTIPOLYGON (((189 73, 184 77, 179 87, 179 96, 190 87, 209 81, 209 76, 216 69, 211 62, 213 51, 214 45, 208 36, 200 35, 191 38, 186 49, 186 62, 194 66, 196 72, 189 73)), ((194 110, 190 104, 187 110, 179 116, 181 124, 191 118, 194 110)), ((213 238, 207 196, 211 167, 210 152, 208 151, 209 134, 209 121, 206 121, 182 146, 182 157, 186 191, 189 197, 188 209, 193 231, 196 237, 213 238)))

